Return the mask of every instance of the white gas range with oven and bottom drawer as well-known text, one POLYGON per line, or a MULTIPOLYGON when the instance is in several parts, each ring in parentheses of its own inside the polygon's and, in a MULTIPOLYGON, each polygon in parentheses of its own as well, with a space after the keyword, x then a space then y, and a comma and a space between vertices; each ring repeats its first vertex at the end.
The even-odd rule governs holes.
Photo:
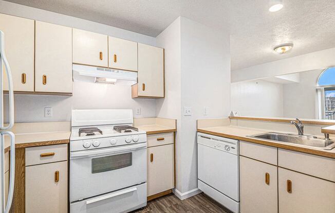
POLYGON ((146 132, 132 110, 73 110, 70 213, 119 213, 146 206, 146 132))

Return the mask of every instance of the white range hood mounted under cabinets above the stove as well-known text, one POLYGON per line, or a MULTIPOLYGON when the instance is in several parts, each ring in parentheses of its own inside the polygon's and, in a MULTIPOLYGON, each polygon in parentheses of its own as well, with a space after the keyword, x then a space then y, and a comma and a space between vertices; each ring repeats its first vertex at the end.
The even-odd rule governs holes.
POLYGON ((110 83, 132 86, 137 83, 137 72, 84 65, 72 65, 73 81, 110 83))

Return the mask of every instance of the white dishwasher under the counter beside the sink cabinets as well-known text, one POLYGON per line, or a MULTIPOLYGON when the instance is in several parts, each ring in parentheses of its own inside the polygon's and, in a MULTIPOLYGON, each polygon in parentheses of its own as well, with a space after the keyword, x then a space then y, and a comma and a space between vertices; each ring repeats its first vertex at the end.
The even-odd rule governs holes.
POLYGON ((203 133, 198 141, 198 188, 231 211, 239 212, 238 140, 203 133))

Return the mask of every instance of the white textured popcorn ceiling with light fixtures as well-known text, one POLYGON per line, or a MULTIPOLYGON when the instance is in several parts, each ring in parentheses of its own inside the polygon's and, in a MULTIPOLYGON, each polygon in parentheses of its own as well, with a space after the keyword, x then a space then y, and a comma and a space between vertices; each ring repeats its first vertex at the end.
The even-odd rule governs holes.
MULTIPOLYGON (((157 36, 178 16, 231 34, 232 70, 335 47, 335 0, 7 0, 157 36), (293 42, 284 55, 273 47, 293 42)), ((335 65, 335 64, 334 64, 335 65)))

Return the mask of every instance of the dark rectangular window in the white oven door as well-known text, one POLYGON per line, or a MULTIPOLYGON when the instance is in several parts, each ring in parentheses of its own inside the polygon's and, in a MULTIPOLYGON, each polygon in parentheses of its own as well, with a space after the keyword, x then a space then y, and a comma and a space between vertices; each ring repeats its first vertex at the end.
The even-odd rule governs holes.
POLYGON ((92 159, 92 174, 112 171, 133 164, 133 153, 111 155, 92 159))

